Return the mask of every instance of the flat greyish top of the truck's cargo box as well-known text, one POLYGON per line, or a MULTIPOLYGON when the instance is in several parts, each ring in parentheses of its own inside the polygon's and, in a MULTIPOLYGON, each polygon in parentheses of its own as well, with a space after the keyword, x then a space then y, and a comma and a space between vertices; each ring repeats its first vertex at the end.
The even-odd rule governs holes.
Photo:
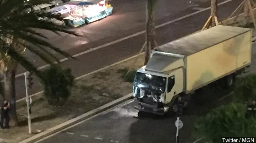
POLYGON ((250 30, 249 28, 218 25, 166 43, 157 47, 155 51, 189 56, 250 30))

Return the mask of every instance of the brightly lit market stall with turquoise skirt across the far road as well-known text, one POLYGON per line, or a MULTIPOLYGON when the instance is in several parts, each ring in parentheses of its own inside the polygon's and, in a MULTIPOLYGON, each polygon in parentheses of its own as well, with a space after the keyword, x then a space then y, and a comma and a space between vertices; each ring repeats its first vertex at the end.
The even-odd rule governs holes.
POLYGON ((113 7, 102 0, 97 4, 89 2, 70 1, 64 3, 62 8, 52 9, 52 13, 60 13, 62 17, 72 27, 77 27, 85 23, 91 23, 103 19, 112 14, 113 7))

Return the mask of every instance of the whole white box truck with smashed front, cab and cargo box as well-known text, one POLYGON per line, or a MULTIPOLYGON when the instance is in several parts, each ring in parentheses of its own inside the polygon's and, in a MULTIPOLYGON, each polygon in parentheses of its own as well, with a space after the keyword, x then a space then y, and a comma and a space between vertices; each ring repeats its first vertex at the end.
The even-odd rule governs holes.
POLYGON ((233 86, 251 63, 251 38, 251 29, 217 25, 156 47, 137 69, 135 108, 160 115, 177 112, 178 97, 186 107, 190 95, 210 83, 233 86))

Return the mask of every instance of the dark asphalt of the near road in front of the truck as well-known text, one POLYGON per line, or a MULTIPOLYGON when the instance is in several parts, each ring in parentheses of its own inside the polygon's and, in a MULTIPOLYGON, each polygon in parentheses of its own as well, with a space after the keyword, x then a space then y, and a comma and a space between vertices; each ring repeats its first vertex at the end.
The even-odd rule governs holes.
MULTIPOLYGON (((252 47, 252 64, 249 72, 256 72, 256 44, 252 47)), ((230 91, 220 89, 207 90, 204 104, 191 101, 188 110, 180 117, 183 128, 179 131, 180 143, 192 143, 195 121, 212 108, 226 104, 231 96, 226 96, 230 91), (221 99, 221 100, 219 100, 221 99)), ((195 93, 197 96, 199 93, 195 93)), ((136 100, 122 103, 116 108, 103 112, 98 116, 64 129, 38 141, 39 143, 174 143, 176 127, 175 115, 168 114, 164 118, 157 115, 144 114, 138 118, 138 111, 134 108, 136 100)))

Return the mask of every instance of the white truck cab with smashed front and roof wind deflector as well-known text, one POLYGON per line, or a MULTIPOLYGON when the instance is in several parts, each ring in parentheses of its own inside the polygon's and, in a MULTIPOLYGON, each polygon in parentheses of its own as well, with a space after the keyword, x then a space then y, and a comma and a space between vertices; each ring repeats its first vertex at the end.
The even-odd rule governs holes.
POLYGON ((134 79, 133 96, 139 102, 136 108, 149 113, 166 113, 183 92, 183 66, 182 56, 153 51, 147 65, 137 70, 134 79))

